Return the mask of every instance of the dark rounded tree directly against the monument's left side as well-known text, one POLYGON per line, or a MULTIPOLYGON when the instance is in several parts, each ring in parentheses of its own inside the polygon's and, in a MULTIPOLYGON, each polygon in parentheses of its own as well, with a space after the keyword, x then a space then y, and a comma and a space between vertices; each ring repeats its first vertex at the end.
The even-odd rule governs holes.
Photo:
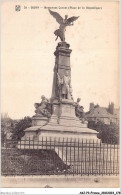
POLYGON ((32 119, 30 117, 24 117, 24 119, 21 119, 14 127, 12 139, 13 140, 20 140, 25 132, 24 130, 28 127, 31 127, 32 125, 32 119))

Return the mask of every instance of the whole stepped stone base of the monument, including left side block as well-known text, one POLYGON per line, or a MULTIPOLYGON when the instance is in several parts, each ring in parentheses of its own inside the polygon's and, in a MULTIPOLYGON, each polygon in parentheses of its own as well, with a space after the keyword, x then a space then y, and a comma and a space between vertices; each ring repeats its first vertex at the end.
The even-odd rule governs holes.
POLYGON ((74 138, 74 139, 94 139, 97 138, 97 131, 87 128, 87 123, 82 123, 75 116, 75 106, 72 101, 61 101, 53 103, 53 114, 47 122, 47 119, 34 118, 36 126, 25 130, 25 136, 22 138, 40 140, 41 137, 52 138, 74 138))

